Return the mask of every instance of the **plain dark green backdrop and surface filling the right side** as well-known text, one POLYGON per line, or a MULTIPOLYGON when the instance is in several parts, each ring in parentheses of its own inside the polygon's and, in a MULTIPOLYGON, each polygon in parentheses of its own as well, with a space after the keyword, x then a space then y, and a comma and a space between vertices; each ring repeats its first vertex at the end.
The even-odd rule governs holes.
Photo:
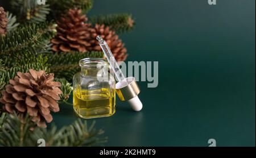
MULTIPOLYGON (((89 15, 126 12, 127 61, 159 61, 159 85, 139 82, 141 112, 93 119, 106 146, 255 146, 255 0, 96 0, 89 15)), ((76 118, 62 105, 54 122, 76 118)))

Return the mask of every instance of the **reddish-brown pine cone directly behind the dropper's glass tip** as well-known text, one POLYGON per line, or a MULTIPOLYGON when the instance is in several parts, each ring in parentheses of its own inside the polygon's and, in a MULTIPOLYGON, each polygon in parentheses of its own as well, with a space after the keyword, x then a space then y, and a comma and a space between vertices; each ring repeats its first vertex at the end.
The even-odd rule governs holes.
POLYGON ((104 24, 96 24, 94 28, 90 29, 90 46, 87 47, 89 51, 101 51, 101 47, 98 45, 98 41, 96 40, 98 35, 100 35, 106 41, 106 43, 108 43, 115 60, 126 60, 127 50, 124 47, 125 44, 122 43, 114 31, 109 30, 109 27, 105 27, 104 24))

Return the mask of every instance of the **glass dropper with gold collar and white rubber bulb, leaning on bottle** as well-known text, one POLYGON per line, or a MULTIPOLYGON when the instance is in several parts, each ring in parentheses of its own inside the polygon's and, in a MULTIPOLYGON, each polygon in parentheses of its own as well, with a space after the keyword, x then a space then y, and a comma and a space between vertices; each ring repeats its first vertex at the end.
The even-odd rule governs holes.
POLYGON ((133 110, 140 111, 142 109, 142 102, 138 97, 140 90, 135 82, 135 78, 125 78, 106 41, 102 39, 101 36, 97 36, 96 39, 99 41, 100 47, 108 59, 109 65, 113 69, 115 76, 117 77, 118 82, 115 88, 117 90, 118 97, 121 99, 121 101, 127 100, 133 110))

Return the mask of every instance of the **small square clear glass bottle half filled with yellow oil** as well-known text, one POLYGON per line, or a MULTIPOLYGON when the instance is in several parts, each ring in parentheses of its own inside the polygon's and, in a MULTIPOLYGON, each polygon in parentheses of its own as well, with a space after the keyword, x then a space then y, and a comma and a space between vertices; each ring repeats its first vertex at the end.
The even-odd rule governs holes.
POLYGON ((81 118, 109 117, 115 113, 115 80, 104 59, 79 61, 73 76, 73 108, 81 118))

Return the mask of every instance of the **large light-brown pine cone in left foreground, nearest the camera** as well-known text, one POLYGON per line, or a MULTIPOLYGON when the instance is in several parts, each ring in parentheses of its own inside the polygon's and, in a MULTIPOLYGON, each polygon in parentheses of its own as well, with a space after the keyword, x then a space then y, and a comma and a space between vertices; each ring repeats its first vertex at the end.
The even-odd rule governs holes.
POLYGON ((5 86, 0 102, 9 113, 28 113, 39 127, 52 121, 50 111, 59 111, 60 82, 54 82, 54 74, 30 69, 30 73, 18 72, 9 85, 5 86))

